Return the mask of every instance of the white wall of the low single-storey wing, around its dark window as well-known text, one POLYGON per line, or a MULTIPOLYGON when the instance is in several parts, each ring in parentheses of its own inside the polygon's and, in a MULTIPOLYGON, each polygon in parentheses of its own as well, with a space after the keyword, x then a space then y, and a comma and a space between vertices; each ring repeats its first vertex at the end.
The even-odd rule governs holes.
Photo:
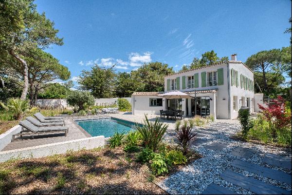
POLYGON ((160 115, 160 110, 165 110, 165 98, 162 106, 150 106, 150 98, 157 96, 132 96, 132 115, 155 114, 160 115))

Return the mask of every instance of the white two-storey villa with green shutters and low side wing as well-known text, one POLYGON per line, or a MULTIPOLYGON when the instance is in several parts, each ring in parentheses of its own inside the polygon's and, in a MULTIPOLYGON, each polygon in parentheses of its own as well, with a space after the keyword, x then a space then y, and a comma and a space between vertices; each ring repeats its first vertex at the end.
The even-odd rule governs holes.
POLYGON ((234 119, 247 106, 257 112, 262 94, 254 93, 254 72, 236 54, 231 60, 183 71, 164 77, 164 92, 135 92, 132 115, 160 114, 160 110, 181 110, 184 116, 213 115, 234 119), (158 95, 181 91, 193 98, 166 99, 158 95))

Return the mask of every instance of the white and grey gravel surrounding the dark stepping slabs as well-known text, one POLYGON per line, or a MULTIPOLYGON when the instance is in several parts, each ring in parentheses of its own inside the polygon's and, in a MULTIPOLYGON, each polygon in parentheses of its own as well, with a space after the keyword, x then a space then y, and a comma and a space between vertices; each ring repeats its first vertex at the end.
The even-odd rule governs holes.
MULTIPOLYGON (((198 137, 206 140, 206 142, 198 146, 193 146, 203 157, 184 167, 181 171, 167 177, 161 181, 159 185, 170 194, 201 194, 211 183, 218 184, 237 194, 255 194, 220 178, 220 175, 226 169, 230 169, 241 175, 253 177, 291 191, 291 185, 247 172, 230 165, 233 160, 240 159, 260 166, 280 170, 291 175, 291 169, 284 169, 262 162, 266 153, 273 153, 291 158, 291 149, 231 139, 229 136, 236 134, 239 129, 240 126, 238 124, 224 122, 212 123, 209 127, 195 129, 195 131, 198 132, 198 137), (200 133, 200 131, 203 132, 200 133), (206 134, 205 131, 211 131, 212 133, 206 134), (210 148, 212 145, 212 148, 215 150, 208 149, 208 147, 210 148), (223 147, 223 149, 220 147, 223 147), (246 158, 240 157, 240 155, 232 155, 231 152, 237 147, 250 148, 252 149, 250 150, 252 154, 246 158), (216 148, 218 148, 218 150, 216 150, 216 148)), ((174 132, 169 131, 167 139, 172 139, 173 135, 174 132)))

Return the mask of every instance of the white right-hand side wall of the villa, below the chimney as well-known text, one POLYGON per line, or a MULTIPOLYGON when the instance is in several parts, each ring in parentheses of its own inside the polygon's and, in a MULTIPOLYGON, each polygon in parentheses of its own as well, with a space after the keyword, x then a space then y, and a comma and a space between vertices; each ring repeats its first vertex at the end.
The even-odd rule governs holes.
POLYGON ((251 79, 254 81, 254 73, 247 68, 242 63, 229 63, 230 67, 230 108, 231 108, 231 118, 237 118, 238 117, 238 110, 241 106, 248 106, 250 108, 251 112, 254 112, 254 91, 253 90, 245 90, 244 87, 241 87, 241 81, 240 81, 240 74, 251 79), (238 86, 231 84, 231 70, 234 69, 238 71, 238 86), (236 100, 236 106, 234 109, 233 104, 233 98, 235 97, 236 100))

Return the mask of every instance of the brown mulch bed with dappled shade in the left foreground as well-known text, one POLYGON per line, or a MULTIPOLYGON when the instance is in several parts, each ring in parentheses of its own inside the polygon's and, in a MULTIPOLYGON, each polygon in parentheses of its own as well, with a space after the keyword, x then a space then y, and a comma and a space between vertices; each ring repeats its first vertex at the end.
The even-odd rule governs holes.
POLYGON ((146 165, 127 159, 121 149, 93 149, 0 163, 0 194, 165 194, 146 165))

